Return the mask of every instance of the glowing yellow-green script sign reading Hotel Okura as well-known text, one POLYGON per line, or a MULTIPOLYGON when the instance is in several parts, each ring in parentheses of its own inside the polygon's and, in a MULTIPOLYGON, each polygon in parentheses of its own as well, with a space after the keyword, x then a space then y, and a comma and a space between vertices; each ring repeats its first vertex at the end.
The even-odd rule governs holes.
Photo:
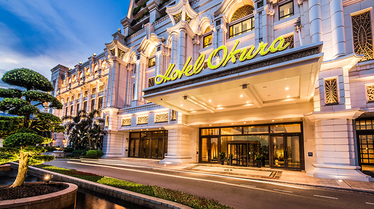
MULTIPOLYGON (((217 49, 213 50, 213 52, 208 57, 208 67, 212 70, 217 69, 220 66, 226 66, 228 61, 232 61, 232 63, 236 62, 236 58, 234 55, 240 53, 239 61, 246 61, 251 60, 258 53, 260 53, 261 56, 265 56, 269 52, 275 53, 277 51, 282 51, 286 49, 289 45, 289 43, 284 43, 283 36, 279 36, 277 39, 273 41, 273 43, 270 45, 268 49, 266 47, 268 46, 267 43, 263 43, 262 41, 259 43, 258 49, 255 50, 254 46, 251 46, 249 49, 242 48, 242 49, 236 49, 236 47, 239 44, 239 40, 237 40, 234 44, 234 47, 232 48, 230 54, 228 54, 228 50, 226 46, 220 46, 217 49), (278 45, 277 45, 278 44, 278 45), (277 46, 276 46, 277 45, 277 46), (216 57, 217 54, 222 51, 223 57, 222 60, 220 60, 218 63, 214 64, 212 63, 213 57, 216 57)), ((175 64, 169 64, 169 67, 166 70, 165 75, 157 75, 155 79, 156 84, 162 84, 163 82, 167 81, 174 81, 177 78, 182 78, 183 75, 186 75, 187 77, 198 74, 203 70, 204 68, 204 61, 205 61, 205 55, 202 54, 199 56, 199 58, 196 60, 195 64, 192 66, 192 64, 189 64, 191 61, 191 57, 188 57, 187 62, 185 63, 185 66, 182 70, 175 69, 175 64), (174 70, 174 71, 173 71, 174 70)))

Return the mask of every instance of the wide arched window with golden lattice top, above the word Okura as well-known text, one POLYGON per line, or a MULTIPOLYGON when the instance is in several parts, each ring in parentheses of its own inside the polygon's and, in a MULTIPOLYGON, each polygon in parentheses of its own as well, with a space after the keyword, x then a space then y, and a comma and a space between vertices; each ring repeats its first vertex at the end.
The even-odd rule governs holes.
MULTIPOLYGON (((254 7, 252 5, 244 5, 237 9, 231 16, 231 22, 235 22, 243 17, 253 14, 254 7)), ((238 23, 233 23, 229 26, 229 38, 235 37, 237 35, 249 32, 254 29, 254 17, 250 17, 238 23)))

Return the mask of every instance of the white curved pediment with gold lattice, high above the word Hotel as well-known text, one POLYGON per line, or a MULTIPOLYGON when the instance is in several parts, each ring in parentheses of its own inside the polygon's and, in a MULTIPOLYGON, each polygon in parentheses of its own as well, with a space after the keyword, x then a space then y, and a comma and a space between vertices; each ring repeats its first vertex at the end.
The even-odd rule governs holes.
POLYGON ((169 15, 173 26, 181 21, 192 23, 198 15, 198 13, 192 9, 188 0, 180 0, 177 4, 167 6, 166 13, 169 15))

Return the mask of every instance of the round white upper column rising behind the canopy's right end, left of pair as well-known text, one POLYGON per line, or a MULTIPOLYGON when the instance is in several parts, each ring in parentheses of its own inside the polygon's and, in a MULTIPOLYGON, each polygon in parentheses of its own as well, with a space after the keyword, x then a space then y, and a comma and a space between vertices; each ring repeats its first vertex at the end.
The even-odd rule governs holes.
POLYGON ((322 41, 321 0, 309 0, 309 22, 312 43, 322 41))

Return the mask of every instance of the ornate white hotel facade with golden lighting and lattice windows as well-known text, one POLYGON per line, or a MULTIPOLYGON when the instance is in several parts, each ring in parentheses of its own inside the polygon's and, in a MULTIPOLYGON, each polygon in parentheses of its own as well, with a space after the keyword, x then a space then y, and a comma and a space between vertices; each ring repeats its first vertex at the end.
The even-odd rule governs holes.
MULTIPOLYGON (((372 0, 131 0, 123 29, 52 71, 56 116, 99 109, 104 158, 373 181, 372 0), (103 44, 104 45, 104 44, 103 44)), ((68 121, 67 121, 68 122, 68 121)), ((57 144, 66 136, 55 134, 57 144)))

